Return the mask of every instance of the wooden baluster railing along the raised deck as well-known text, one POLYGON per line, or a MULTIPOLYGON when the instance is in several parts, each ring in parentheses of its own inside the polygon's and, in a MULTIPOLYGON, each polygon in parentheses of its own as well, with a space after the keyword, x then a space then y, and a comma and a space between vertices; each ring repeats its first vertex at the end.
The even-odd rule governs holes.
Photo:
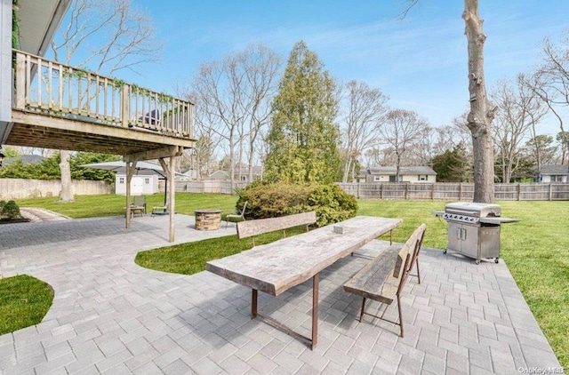
POLYGON ((192 138, 193 104, 116 78, 13 51, 13 108, 192 138))

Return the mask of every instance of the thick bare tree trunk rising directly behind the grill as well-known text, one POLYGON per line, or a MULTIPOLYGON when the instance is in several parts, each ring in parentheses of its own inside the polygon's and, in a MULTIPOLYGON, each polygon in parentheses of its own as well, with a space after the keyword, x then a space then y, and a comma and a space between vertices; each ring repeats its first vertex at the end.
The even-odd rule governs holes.
POLYGON ((494 155, 492 121, 494 109, 488 109, 484 76, 483 20, 478 15, 478 1, 465 0, 462 18, 466 22, 469 49, 470 112, 467 117, 472 134, 474 156, 474 202, 494 201, 494 155))

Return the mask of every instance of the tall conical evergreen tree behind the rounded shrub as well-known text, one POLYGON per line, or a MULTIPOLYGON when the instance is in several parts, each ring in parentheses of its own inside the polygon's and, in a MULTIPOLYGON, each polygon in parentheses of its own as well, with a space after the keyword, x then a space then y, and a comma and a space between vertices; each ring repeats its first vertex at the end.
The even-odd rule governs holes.
POLYGON ((273 100, 265 161, 268 180, 330 183, 338 179, 339 129, 333 78, 315 52, 298 42, 273 100))

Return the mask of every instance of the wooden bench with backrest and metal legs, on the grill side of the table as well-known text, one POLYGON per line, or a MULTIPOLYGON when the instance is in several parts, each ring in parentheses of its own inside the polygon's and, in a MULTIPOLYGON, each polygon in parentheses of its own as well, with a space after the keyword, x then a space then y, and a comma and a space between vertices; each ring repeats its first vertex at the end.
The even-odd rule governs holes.
POLYGON ((364 315, 371 315, 389 323, 397 324, 401 329, 401 337, 404 337, 401 293, 407 278, 411 275, 414 264, 417 265, 416 276, 419 278, 419 283, 421 283, 419 252, 421 251, 426 228, 425 224, 421 224, 421 226, 415 229, 405 244, 389 246, 388 249, 382 251, 378 257, 357 272, 348 283, 344 284, 344 291, 363 297, 362 309, 359 315, 360 322, 364 315), (381 316, 365 313, 365 299, 373 299, 387 305, 381 316), (397 310, 399 313, 398 323, 383 317, 389 305, 395 299, 397 299, 397 310))

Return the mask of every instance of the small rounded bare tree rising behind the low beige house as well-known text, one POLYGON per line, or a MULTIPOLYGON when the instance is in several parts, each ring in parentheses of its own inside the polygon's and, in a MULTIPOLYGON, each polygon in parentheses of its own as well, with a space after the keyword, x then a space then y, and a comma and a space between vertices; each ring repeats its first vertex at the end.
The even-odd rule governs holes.
POLYGON ((416 112, 405 109, 389 111, 379 126, 378 132, 381 135, 382 144, 392 148, 395 154, 397 181, 399 181, 399 170, 403 165, 404 157, 428 126, 427 120, 416 112))

